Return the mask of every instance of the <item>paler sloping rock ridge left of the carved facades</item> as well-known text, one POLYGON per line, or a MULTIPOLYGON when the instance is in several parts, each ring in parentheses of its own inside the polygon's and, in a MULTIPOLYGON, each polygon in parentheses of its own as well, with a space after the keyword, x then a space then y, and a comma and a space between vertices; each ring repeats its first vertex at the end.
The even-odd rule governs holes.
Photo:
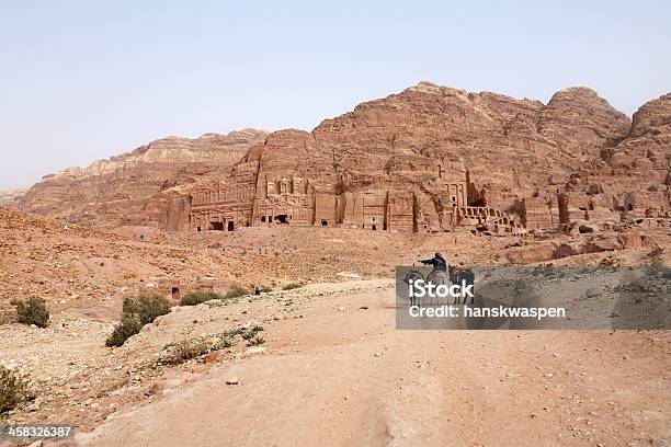
POLYGON ((196 139, 169 137, 86 169, 46 175, 19 206, 30 213, 100 227, 189 228, 189 187, 218 176, 265 139, 255 129, 196 139))

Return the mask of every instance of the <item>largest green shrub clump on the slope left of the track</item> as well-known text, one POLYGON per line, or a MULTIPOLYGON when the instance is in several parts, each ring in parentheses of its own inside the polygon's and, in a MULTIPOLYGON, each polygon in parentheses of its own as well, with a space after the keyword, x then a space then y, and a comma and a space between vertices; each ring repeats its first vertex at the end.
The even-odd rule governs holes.
POLYGON ((122 308, 122 319, 105 341, 106 346, 121 346, 137 334, 145 324, 157 317, 170 312, 170 303, 160 295, 151 297, 126 298, 122 308))

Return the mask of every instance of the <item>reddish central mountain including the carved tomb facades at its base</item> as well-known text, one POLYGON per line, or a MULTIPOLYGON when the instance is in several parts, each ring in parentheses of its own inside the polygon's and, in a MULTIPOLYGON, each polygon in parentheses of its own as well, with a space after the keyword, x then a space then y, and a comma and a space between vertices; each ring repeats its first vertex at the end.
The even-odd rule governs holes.
MULTIPOLYGON (((649 108, 656 118, 639 113, 640 123, 664 122, 659 105, 649 108)), ((192 228, 466 225, 514 233, 642 218, 649 213, 640 204, 669 218, 663 179, 648 190, 640 179, 621 181, 634 168, 613 172, 609 151, 626 147, 630 133, 628 117, 585 88, 544 105, 421 82, 311 133, 271 134, 230 177, 194 194, 192 228)))

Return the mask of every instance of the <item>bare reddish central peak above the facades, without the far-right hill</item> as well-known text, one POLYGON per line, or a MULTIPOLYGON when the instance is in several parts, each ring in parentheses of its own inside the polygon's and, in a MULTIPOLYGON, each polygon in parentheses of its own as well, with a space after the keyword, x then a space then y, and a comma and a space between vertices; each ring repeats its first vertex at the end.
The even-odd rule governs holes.
POLYGON ((260 174, 342 179, 345 188, 406 183, 434 196, 434 181, 463 181, 468 169, 496 203, 564 184, 576 171, 604 172, 601 151, 629 128, 626 115, 585 88, 559 91, 545 105, 420 82, 311 133, 271 134, 249 158, 261 160, 260 174))

